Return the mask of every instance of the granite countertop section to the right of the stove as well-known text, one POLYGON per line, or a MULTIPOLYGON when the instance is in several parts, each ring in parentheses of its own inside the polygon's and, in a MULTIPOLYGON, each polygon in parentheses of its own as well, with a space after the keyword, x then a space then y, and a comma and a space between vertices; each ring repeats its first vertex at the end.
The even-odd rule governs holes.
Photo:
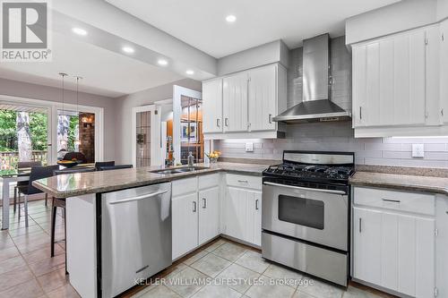
POLYGON ((390 188, 409 192, 431 192, 448 195, 448 176, 425 175, 428 171, 420 170, 422 175, 416 175, 418 172, 409 168, 391 167, 391 170, 384 171, 380 169, 365 169, 355 173, 350 179, 351 185, 372 186, 381 188, 390 188), (389 172, 389 173, 387 173, 389 172))

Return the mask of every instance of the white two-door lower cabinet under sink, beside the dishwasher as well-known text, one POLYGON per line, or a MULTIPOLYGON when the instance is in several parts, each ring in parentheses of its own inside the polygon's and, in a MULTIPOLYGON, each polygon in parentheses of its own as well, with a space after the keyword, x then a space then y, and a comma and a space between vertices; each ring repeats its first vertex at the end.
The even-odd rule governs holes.
POLYGON ((173 260, 220 234, 219 185, 220 174, 173 181, 173 260))

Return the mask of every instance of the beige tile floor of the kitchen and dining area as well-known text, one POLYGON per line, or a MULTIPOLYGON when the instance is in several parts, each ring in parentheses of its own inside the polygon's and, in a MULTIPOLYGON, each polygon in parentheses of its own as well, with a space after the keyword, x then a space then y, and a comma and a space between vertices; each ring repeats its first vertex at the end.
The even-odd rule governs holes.
MULTIPOLYGON (((50 207, 43 200, 29 206, 30 226, 11 208, 10 229, 0 234, 0 298, 79 297, 65 277, 64 242, 50 258, 50 207)), ((56 219, 56 240, 64 221, 56 219)), ((161 272, 151 285, 134 287, 124 297, 390 297, 350 285, 348 290, 304 277, 263 260, 259 251, 220 238, 161 272), (163 277, 163 278, 162 278, 163 277), (203 284, 202 282, 206 282, 203 284)), ((367 289, 368 290, 368 289, 367 289)))

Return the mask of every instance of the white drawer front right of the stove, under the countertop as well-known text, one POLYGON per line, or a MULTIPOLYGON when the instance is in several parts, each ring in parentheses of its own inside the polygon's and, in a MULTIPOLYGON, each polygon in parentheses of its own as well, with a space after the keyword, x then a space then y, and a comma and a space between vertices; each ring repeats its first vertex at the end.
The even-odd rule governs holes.
POLYGON ((354 187, 353 196, 354 203, 358 205, 427 215, 435 214, 435 196, 432 194, 354 187))

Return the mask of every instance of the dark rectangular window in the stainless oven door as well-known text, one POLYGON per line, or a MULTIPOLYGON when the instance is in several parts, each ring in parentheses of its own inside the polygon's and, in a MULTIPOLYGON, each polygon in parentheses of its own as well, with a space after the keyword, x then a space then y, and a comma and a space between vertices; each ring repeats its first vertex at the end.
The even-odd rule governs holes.
POLYGON ((323 230, 323 201, 279 196, 279 219, 323 230))

